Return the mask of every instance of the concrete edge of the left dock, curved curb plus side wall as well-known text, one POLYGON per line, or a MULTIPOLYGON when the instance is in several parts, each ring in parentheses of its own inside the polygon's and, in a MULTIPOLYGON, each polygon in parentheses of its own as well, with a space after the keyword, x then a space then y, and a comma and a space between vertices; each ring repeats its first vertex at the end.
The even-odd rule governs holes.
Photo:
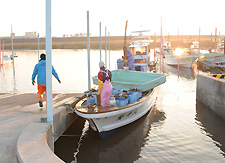
POLYGON ((47 123, 47 115, 41 117, 41 123, 31 123, 21 132, 16 147, 17 162, 63 162, 53 152, 54 142, 77 119, 77 115, 71 111, 71 105, 54 109, 54 133, 52 125, 47 123))

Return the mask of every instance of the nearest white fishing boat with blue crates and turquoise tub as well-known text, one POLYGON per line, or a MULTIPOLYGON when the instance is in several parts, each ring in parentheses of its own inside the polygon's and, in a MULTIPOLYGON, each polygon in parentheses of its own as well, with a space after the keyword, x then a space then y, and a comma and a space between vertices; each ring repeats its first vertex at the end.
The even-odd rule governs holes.
MULTIPOLYGON (((91 128, 105 138, 116 129, 145 115, 155 103, 157 86, 166 81, 165 74, 114 70, 113 94, 108 106, 98 106, 96 92, 85 94, 75 102, 75 113, 88 120, 91 128)), ((94 84, 97 76, 93 77, 94 84)))

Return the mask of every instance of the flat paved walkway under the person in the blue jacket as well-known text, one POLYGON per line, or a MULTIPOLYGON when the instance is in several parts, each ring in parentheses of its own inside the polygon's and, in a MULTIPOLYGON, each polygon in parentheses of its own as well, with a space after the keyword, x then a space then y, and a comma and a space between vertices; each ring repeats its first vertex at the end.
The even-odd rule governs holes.
MULTIPOLYGON (((78 94, 53 94, 53 108, 72 100, 78 94)), ((0 162, 16 163, 16 143, 21 131, 30 123, 40 122, 46 104, 40 110, 35 93, 0 93, 0 162)))

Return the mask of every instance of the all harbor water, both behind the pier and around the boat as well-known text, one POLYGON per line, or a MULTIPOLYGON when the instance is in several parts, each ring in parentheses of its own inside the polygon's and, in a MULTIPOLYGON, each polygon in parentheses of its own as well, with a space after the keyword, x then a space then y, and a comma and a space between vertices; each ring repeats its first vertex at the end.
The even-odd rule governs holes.
MULTIPOLYGON (((53 79, 54 92, 87 90, 86 50, 52 50, 52 63, 62 84, 53 79)), ((104 51, 102 51, 104 53, 104 51)), ((111 70, 122 51, 111 51, 111 70)), ((12 66, 1 68, 0 92, 36 92, 31 74, 37 51, 18 51, 12 66)), ((104 57, 104 55, 103 55, 104 57)), ((104 59, 103 59, 104 60, 104 59)), ((91 76, 98 72, 99 51, 91 51, 91 76)), ((167 81, 158 87, 148 114, 100 139, 78 118, 55 142, 55 154, 65 162, 225 162, 225 121, 196 101, 196 76, 210 73, 166 66, 167 81)), ((215 72, 214 72, 215 73, 215 72)), ((94 85, 93 85, 94 86, 94 85)))

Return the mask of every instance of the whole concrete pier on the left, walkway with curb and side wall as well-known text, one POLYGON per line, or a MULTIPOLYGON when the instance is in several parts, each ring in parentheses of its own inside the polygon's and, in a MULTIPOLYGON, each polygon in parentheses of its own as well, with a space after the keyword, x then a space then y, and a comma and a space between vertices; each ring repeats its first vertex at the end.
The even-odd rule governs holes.
MULTIPOLYGON (((53 94, 54 133, 62 134, 76 119, 68 107, 79 94, 53 94)), ((63 162, 54 155, 46 106, 40 110, 35 93, 0 94, 0 162, 63 162)), ((45 103, 44 103, 45 104, 45 103)))

